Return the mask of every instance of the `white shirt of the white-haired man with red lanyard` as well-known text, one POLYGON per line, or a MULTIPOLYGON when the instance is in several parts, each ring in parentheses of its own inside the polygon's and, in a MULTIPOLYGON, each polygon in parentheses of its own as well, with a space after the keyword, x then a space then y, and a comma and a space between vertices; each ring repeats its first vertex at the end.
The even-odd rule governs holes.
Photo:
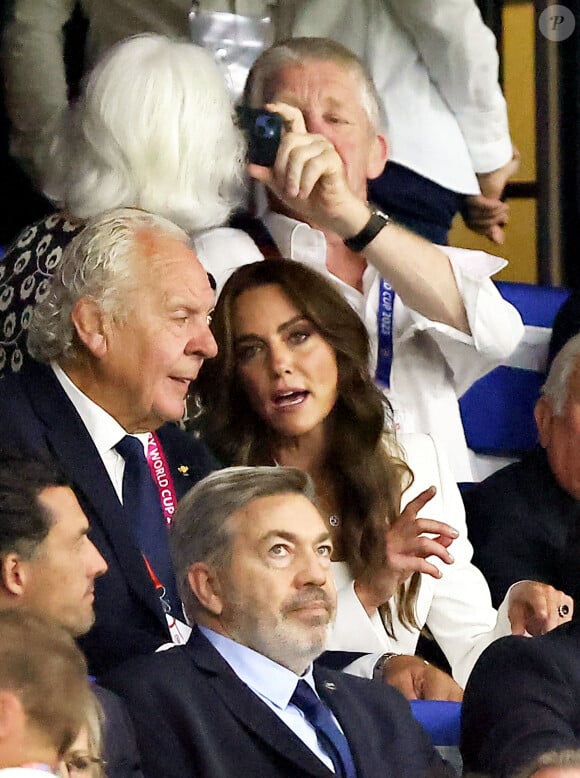
MULTIPOLYGON (((115 488, 119 502, 122 504, 125 460, 115 449, 115 446, 125 437, 127 432, 110 413, 107 413, 100 405, 97 405, 90 397, 87 397, 86 394, 81 392, 61 367, 54 362, 51 364, 51 367, 54 370, 54 374, 59 384, 62 386, 67 397, 74 405, 76 412, 81 417, 83 424, 87 428, 87 432, 95 444, 95 448, 97 449, 98 454, 103 461, 103 465, 105 466, 105 470, 115 488)), ((143 451, 146 454, 149 433, 140 433, 133 437, 139 440, 143 446, 143 451)))

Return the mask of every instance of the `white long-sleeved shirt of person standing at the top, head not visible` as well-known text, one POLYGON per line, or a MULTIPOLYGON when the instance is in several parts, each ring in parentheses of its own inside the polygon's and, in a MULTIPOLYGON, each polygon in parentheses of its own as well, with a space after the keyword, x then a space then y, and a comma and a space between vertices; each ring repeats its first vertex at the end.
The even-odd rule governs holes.
MULTIPOLYGON (((284 5, 284 4, 283 4, 284 5)), ((291 0, 280 36, 333 38, 366 62, 390 158, 454 192, 512 156, 495 38, 474 0, 291 0)))

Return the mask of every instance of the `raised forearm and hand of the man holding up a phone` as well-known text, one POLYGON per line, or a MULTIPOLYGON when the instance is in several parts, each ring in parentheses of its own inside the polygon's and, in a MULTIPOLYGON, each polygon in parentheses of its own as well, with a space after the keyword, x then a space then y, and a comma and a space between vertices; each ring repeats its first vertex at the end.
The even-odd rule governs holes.
MULTIPOLYGON (((267 108, 284 117, 287 131, 274 166, 249 165, 250 175, 263 182, 291 213, 322 228, 334 250, 347 254, 342 240, 359 233, 370 218, 366 200, 349 186, 332 143, 323 135, 308 133, 297 108, 285 103, 271 103, 267 108)), ((451 264, 436 246, 389 224, 362 254, 410 308, 469 334, 451 264)), ((356 255, 351 253, 351 257, 356 260, 356 255)))

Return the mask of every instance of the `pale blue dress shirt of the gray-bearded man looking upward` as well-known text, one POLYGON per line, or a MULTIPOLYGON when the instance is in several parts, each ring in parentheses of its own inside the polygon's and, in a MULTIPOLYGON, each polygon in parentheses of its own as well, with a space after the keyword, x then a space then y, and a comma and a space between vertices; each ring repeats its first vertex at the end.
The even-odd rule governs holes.
MULTIPOLYGON (((334 772, 332 760, 318 744, 316 730, 306 721, 304 713, 290 704, 290 698, 300 680, 306 681, 318 697, 312 675, 312 665, 304 675, 298 676, 288 668, 268 659, 267 656, 259 654, 241 643, 236 643, 225 635, 220 635, 207 627, 200 626, 199 630, 226 660, 238 678, 265 702, 270 710, 274 711, 276 716, 300 738, 304 745, 308 746, 334 772)), ((334 723, 341 729, 332 711, 330 713, 334 723)))

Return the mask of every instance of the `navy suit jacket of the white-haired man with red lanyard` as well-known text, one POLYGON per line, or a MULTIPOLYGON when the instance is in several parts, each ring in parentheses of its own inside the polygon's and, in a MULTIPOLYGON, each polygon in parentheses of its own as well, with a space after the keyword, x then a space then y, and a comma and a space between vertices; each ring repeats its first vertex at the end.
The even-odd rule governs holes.
MULTIPOLYGON (((53 458, 89 520, 90 538, 109 569, 95 582, 94 627, 80 639, 99 676, 135 654, 167 642, 169 632, 123 507, 85 425, 52 369, 37 362, 0 381, 1 443, 53 458)), ((206 447, 174 425, 157 430, 177 497, 217 467, 206 447), (185 465, 184 474, 177 468, 185 465)))

